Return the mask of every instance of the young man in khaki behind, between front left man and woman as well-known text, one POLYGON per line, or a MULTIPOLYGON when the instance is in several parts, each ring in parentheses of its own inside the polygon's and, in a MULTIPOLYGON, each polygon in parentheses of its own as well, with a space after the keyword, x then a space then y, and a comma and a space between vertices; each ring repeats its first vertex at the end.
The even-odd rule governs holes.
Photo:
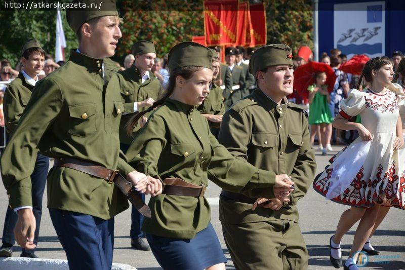
MULTIPOLYGON (((135 136, 127 134, 125 125, 134 112, 143 111, 151 106, 157 100, 161 91, 159 80, 151 72, 156 58, 153 43, 137 41, 132 46, 132 54, 135 56, 134 64, 130 68, 117 73, 121 98, 124 103, 124 115, 121 117, 119 124, 120 149, 124 153, 128 150, 135 136)), ((139 130, 140 125, 136 127, 134 133, 139 130)), ((145 201, 144 195, 142 195, 142 200, 145 201)), ((135 207, 132 207, 131 221, 131 247, 139 250, 149 250, 149 245, 142 240, 143 216, 135 207)))

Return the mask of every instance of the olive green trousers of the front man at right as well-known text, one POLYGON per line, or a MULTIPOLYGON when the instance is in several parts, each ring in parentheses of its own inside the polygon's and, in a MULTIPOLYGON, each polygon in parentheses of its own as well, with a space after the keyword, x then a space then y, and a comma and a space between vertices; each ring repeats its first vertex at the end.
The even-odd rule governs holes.
POLYGON ((222 232, 238 270, 308 269, 308 250, 294 221, 222 222, 222 232))

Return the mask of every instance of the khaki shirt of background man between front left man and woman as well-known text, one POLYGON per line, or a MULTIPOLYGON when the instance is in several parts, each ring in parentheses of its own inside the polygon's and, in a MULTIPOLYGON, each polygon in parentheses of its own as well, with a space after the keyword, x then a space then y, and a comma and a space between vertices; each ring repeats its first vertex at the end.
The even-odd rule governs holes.
MULTIPOLYGON (((149 80, 142 83, 142 76, 135 65, 126 70, 119 71, 117 73, 119 79, 119 89, 121 92, 121 98, 124 103, 125 114, 121 118, 119 125, 119 139, 121 143, 130 144, 134 139, 128 136, 125 125, 134 115, 134 102, 144 101, 148 98, 153 98, 155 101, 161 92, 161 86, 159 80, 149 72, 149 80)), ((138 111, 143 111, 147 107, 138 108, 138 111)), ((145 115, 148 117, 149 114, 145 115)), ((134 128, 134 133, 139 131, 140 126, 134 128)), ((135 134, 134 134, 135 135, 135 134)))

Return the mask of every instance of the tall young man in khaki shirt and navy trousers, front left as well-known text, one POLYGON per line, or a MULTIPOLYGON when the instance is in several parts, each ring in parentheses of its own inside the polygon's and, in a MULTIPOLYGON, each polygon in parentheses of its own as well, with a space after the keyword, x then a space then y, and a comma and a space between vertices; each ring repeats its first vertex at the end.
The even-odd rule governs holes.
MULTIPOLYGON (((81 3, 90 6, 89 1, 81 3)), ((135 171, 119 153, 124 106, 116 76, 106 82, 103 60, 114 55, 121 37, 115 2, 104 1, 101 10, 68 10, 66 17, 79 48, 35 85, 2 156, 2 178, 10 207, 22 208, 17 211, 16 241, 32 249, 35 217, 29 176, 36 149, 53 157, 48 207, 69 268, 104 270, 112 264, 113 217, 128 208, 126 197, 110 181, 115 169, 141 192, 147 187, 156 195, 161 185, 135 171)))

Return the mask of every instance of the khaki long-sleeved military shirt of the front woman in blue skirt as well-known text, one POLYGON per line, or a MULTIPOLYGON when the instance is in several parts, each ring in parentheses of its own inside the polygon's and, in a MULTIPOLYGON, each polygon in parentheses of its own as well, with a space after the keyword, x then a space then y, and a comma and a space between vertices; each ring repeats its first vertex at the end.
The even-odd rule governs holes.
MULTIPOLYGON (((161 180, 178 177, 249 196, 273 198, 275 175, 235 159, 211 134, 207 120, 194 108, 168 99, 149 117, 127 151, 138 171, 161 180)), ((210 205, 204 197, 159 195, 149 202, 152 217, 143 232, 171 238, 192 239, 207 227, 210 205)))

